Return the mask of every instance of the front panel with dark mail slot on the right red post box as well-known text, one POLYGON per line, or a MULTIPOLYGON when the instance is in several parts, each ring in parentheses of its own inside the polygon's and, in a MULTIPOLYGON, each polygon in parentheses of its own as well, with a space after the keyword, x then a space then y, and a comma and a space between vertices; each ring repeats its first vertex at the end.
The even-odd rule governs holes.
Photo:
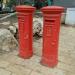
POLYGON ((55 24, 56 24, 56 19, 50 19, 50 18, 45 18, 45 26, 44 26, 44 51, 46 56, 50 56, 50 54, 53 54, 55 50, 53 50, 54 47, 54 42, 53 40, 56 38, 55 37, 55 24), (54 38, 54 39, 53 39, 54 38))

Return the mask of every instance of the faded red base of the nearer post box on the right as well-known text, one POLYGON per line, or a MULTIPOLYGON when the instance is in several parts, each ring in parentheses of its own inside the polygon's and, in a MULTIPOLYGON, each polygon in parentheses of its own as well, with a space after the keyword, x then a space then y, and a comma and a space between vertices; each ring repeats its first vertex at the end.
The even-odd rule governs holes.
POLYGON ((42 65, 47 66, 47 67, 55 67, 58 64, 58 60, 56 61, 48 61, 46 59, 42 59, 40 62, 42 65))

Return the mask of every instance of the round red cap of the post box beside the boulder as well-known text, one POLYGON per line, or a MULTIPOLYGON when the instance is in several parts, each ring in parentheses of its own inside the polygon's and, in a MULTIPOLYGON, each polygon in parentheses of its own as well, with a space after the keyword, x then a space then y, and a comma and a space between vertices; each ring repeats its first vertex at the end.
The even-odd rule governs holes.
POLYGON ((35 7, 28 6, 28 5, 18 5, 16 6, 16 11, 23 12, 23 11, 34 11, 35 7))

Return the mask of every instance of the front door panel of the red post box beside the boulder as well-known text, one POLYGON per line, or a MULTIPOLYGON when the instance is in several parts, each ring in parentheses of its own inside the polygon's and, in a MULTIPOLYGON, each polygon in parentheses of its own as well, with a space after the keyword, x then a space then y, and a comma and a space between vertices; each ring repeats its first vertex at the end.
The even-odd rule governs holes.
POLYGON ((25 15, 19 19, 19 42, 21 50, 29 48, 29 16, 25 15))

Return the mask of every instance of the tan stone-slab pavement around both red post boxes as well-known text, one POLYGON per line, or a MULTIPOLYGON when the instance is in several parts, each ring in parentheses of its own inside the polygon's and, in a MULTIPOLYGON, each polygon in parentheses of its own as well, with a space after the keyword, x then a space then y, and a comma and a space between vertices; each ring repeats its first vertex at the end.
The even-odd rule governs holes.
POLYGON ((59 63, 54 68, 40 64, 42 38, 34 40, 34 55, 22 59, 18 50, 0 55, 0 75, 75 75, 75 28, 61 27, 59 63))

